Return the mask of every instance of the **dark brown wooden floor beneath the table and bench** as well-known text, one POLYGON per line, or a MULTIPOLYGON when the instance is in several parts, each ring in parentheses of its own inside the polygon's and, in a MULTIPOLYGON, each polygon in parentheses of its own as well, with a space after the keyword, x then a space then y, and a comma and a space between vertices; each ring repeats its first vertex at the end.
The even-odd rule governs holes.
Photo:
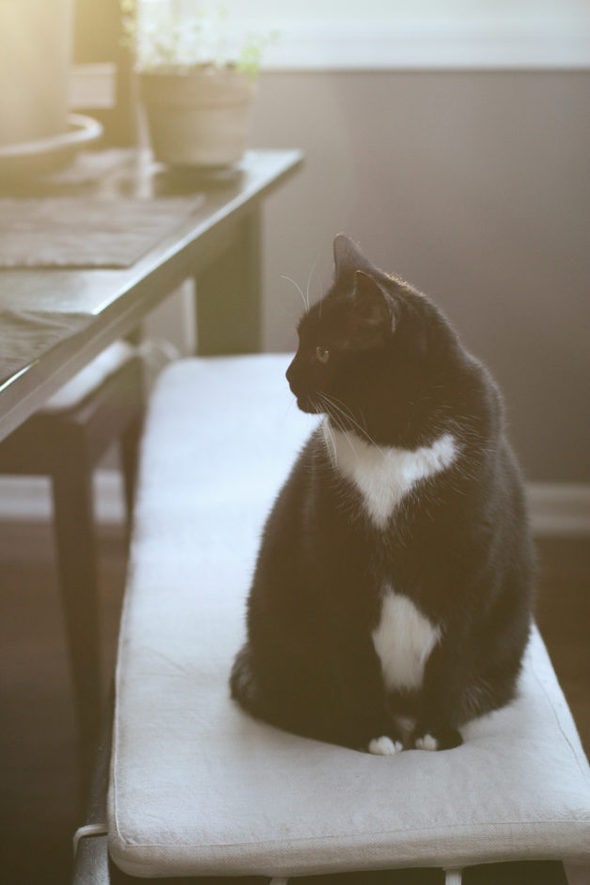
MULTIPOLYGON (((101 537, 105 684, 125 570, 122 534, 101 537)), ((590 541, 539 544, 538 621, 590 754, 590 541)), ((65 885, 77 808, 76 744, 49 529, 0 524, 0 880, 65 885)), ((568 871, 590 885, 590 870, 568 871)))

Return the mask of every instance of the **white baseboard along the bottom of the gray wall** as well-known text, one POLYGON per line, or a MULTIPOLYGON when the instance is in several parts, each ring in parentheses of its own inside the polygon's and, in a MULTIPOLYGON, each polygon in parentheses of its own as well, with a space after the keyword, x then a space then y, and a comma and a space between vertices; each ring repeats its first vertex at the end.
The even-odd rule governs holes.
MULTIPOLYGON (((96 472, 95 494, 98 521, 122 523, 123 487, 117 470, 96 472)), ((590 484, 529 483, 527 494, 536 537, 590 536, 590 484)), ((50 517, 48 479, 0 476, 0 521, 38 522, 50 517)))

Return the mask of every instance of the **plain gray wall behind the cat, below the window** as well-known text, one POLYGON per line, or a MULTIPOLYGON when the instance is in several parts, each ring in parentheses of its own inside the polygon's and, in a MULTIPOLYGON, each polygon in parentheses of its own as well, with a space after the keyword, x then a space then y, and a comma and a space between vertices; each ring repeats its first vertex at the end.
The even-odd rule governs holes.
POLYGON ((301 147, 268 201, 266 347, 295 346, 347 231, 490 366, 531 481, 590 482, 590 72, 265 73, 254 144, 301 147))

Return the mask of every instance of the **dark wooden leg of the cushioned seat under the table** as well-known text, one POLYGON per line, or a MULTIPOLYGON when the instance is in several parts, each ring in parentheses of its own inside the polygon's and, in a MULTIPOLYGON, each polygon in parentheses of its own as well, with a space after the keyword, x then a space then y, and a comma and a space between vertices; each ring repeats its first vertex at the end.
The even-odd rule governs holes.
POLYGON ((53 476, 54 526, 84 773, 100 726, 100 645, 92 469, 82 453, 53 476))

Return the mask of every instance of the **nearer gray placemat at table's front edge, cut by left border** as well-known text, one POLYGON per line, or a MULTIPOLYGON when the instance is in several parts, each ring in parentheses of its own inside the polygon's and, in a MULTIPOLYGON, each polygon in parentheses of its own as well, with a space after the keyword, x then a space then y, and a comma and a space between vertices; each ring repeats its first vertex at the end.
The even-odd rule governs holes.
POLYGON ((87 313, 0 310, 0 384, 93 319, 87 313))

